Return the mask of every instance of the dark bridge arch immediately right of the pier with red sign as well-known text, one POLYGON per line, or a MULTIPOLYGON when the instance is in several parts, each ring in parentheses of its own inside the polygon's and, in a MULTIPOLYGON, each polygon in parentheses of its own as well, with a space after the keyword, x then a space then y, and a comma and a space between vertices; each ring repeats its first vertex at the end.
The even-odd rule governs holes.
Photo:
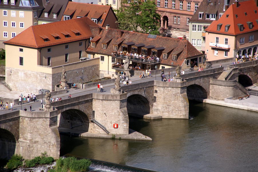
POLYGON ((131 92, 127 95, 127 112, 133 116, 143 117, 150 114, 150 100, 139 92, 131 92))

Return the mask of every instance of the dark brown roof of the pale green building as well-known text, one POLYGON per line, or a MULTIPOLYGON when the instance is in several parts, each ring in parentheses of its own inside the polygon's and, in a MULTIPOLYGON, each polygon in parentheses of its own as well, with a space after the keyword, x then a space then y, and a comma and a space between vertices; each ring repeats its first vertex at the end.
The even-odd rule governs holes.
MULTIPOLYGON (((235 3, 235 0, 226 0, 229 2, 229 6, 235 3)), ((247 0, 238 0, 239 2, 244 2, 247 0)), ((199 5, 197 11, 195 11, 190 22, 201 22, 201 23, 211 23, 214 20, 206 19, 206 14, 216 14, 216 20, 219 19, 219 14, 223 14, 224 11, 224 2, 223 0, 204 0, 201 5, 199 5), (199 19, 199 13, 203 13, 203 18, 199 19)))

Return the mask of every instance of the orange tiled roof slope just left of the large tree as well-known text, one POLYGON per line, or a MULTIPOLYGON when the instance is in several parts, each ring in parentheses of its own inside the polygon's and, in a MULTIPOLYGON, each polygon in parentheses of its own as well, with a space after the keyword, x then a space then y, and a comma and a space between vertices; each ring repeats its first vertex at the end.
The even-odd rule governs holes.
MULTIPOLYGON (((104 21, 108 15, 108 12, 111 9, 110 5, 97 5, 97 4, 88 4, 88 3, 79 3, 79 2, 68 2, 64 14, 68 10, 74 10, 74 15, 71 16, 73 19, 78 17, 87 16, 94 19, 102 19, 101 23, 98 23, 100 26, 103 26, 104 21), (82 12, 84 11, 84 12, 82 12)), ((63 18, 61 19, 63 20, 63 18)))

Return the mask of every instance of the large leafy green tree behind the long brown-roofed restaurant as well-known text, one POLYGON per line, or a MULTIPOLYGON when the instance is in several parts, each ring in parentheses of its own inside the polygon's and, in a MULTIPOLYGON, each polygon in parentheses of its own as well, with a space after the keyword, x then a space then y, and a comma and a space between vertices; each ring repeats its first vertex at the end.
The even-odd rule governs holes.
MULTIPOLYGON (((124 1, 123 3, 127 3, 124 1)), ((137 30, 140 32, 158 34, 160 15, 156 13, 155 1, 146 2, 132 0, 129 7, 116 10, 118 28, 122 30, 137 30)))

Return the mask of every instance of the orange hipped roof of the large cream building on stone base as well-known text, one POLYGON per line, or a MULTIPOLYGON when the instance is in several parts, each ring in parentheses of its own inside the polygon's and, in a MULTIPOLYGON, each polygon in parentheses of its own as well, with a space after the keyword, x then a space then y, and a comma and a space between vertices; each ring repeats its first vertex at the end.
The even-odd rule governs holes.
POLYGON ((4 44, 31 48, 65 44, 92 37, 90 27, 98 28, 99 26, 88 17, 35 25, 30 26, 14 38, 5 41, 4 44), (76 35, 76 32, 80 32, 80 34, 76 35), (69 37, 65 37, 67 34, 69 34, 69 37), (59 39, 55 39, 55 36, 58 36, 59 39), (44 39, 47 39, 47 41, 44 41, 44 39))

